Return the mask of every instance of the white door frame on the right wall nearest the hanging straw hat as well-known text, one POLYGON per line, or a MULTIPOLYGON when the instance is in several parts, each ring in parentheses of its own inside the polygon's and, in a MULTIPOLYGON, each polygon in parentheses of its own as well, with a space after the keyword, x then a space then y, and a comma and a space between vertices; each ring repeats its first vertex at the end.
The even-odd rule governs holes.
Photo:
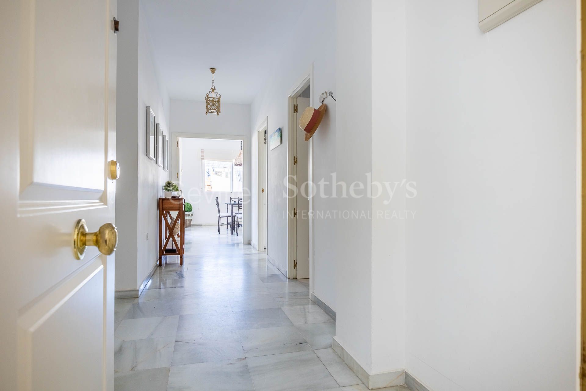
MULTIPOLYGON (((297 149, 297 140, 295 138, 295 131, 297 130, 297 121, 295 117, 295 98, 302 93, 306 87, 309 86, 309 106, 314 105, 314 63, 311 63, 309 69, 301 76, 287 94, 289 107, 289 137, 287 149, 287 174, 288 178, 297 174, 297 166, 293 164, 297 149)), ((313 144, 312 139, 309 140, 309 188, 308 192, 311 195, 313 189, 313 144)), ((287 198, 287 277, 297 278, 297 270, 294 268, 295 260, 295 219, 292 217, 295 205, 295 198, 287 198)), ((314 283, 312 276, 314 275, 314 218, 313 218, 314 202, 313 198, 309 197, 309 291, 314 291, 314 283)))

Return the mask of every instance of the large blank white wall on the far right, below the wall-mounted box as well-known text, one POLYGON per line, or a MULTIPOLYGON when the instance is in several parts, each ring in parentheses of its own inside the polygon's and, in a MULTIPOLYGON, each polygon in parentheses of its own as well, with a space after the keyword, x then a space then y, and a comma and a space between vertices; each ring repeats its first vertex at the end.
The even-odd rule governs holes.
POLYGON ((431 390, 577 383, 577 6, 496 29, 407 2, 407 370, 431 390))

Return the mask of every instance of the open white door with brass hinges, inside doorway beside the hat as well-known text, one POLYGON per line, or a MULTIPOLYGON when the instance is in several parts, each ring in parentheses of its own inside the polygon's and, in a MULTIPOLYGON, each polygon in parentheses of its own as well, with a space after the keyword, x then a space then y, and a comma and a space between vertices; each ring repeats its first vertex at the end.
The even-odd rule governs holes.
POLYGON ((309 278, 309 142, 305 141, 305 132, 299 128, 299 117, 309 107, 309 98, 297 98, 297 219, 295 220, 295 260, 297 260, 297 278, 309 278))

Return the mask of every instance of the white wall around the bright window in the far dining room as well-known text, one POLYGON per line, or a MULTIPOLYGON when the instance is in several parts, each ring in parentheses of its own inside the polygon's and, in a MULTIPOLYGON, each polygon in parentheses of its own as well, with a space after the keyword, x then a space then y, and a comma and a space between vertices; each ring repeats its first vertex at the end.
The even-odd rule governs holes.
MULTIPOLYGON (((202 189, 202 149, 214 149, 234 159, 240 151, 239 140, 211 140, 207 138, 181 139, 181 188, 185 200, 193 206, 193 224, 217 225, 218 213, 216 197, 219 198, 220 211, 226 212, 225 202, 231 198, 242 197, 242 192, 204 192, 202 189)), ((225 222, 225 219, 223 220, 225 222)))

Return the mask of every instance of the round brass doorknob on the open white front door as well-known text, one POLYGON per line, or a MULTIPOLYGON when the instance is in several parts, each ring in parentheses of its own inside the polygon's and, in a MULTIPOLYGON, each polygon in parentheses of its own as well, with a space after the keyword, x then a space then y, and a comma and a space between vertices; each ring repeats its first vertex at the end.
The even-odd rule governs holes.
POLYGON ((105 223, 96 232, 87 232, 86 220, 77 220, 73 232, 73 254, 83 259, 87 246, 96 246, 100 253, 110 255, 118 244, 118 230, 112 223, 105 223))

